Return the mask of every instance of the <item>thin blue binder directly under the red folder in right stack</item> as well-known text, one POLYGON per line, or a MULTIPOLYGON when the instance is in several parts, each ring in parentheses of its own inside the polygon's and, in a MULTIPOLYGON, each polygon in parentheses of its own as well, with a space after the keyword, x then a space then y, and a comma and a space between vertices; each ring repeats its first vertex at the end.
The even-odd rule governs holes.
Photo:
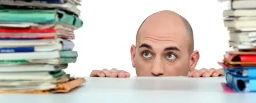
POLYGON ((224 68, 224 71, 235 76, 256 79, 256 67, 224 68))

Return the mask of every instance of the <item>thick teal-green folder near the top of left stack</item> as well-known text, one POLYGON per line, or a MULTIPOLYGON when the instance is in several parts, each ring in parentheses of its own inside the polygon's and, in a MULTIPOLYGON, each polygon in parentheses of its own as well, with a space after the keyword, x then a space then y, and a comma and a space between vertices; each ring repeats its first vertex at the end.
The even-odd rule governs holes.
POLYGON ((67 23, 77 28, 83 24, 78 16, 59 10, 4 9, 0 10, 0 17, 1 22, 67 23))

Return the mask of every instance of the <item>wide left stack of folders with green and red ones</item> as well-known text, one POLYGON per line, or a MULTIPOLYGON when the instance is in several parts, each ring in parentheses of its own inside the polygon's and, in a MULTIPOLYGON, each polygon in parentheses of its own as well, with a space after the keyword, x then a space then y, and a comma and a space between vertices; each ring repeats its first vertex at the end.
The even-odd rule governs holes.
POLYGON ((82 83, 74 63, 78 0, 0 0, 0 93, 67 93, 82 83))

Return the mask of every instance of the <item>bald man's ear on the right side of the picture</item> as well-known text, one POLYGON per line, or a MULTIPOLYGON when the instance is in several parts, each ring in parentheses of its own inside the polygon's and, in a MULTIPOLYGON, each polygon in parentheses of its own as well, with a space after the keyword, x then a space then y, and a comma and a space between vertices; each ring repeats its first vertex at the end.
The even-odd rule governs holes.
POLYGON ((198 50, 195 50, 190 55, 190 69, 189 69, 189 71, 194 71, 195 70, 199 58, 200 58, 200 55, 199 55, 199 51, 198 50))

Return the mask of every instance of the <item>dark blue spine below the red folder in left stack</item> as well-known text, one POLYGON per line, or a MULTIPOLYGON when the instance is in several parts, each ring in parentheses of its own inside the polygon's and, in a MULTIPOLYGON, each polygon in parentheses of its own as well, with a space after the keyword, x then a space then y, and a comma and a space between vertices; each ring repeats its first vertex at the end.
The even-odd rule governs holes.
POLYGON ((0 53, 23 53, 34 51, 34 47, 0 47, 0 53))

